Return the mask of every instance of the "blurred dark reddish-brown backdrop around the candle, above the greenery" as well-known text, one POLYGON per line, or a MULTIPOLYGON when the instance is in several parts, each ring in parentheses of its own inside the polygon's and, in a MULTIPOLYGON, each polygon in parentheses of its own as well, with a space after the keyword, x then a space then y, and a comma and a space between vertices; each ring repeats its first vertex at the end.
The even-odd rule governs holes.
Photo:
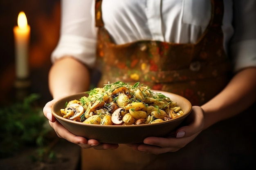
MULTIPOLYGON (((27 93, 40 94, 40 104, 52 99, 48 90, 50 55, 59 37, 60 0, 0 0, 0 106, 17 98, 14 87, 15 50, 13 27, 20 11, 30 25, 29 80, 27 93)), ((18 89, 19 90, 19 89, 18 89)))

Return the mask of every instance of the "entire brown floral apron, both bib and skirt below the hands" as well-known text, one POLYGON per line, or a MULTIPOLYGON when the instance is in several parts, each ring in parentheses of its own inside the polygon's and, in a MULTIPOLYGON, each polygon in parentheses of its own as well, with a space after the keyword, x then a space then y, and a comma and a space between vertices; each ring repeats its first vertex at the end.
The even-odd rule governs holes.
MULTIPOLYGON (((96 0, 95 4, 97 65, 101 68, 98 87, 116 81, 132 85, 140 82, 153 90, 182 95, 192 105, 202 105, 229 82, 231 66, 222 43, 222 1, 212 0, 211 20, 195 44, 141 40, 121 45, 115 44, 104 28, 101 2, 96 0)), ((218 140, 218 132, 205 130, 179 151, 161 155, 134 151, 125 144, 119 144, 116 150, 82 149, 81 169, 229 169, 228 152, 223 153, 227 147, 218 140), (217 162, 216 155, 220 159, 217 162)))

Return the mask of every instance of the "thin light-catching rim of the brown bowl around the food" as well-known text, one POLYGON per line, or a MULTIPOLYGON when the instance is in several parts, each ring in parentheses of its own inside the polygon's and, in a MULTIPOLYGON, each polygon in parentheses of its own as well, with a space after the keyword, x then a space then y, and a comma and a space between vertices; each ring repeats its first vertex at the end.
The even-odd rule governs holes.
MULTIPOLYGON (((162 121, 162 122, 158 122, 158 123, 155 123, 155 124, 139 124, 139 125, 99 125, 99 124, 84 124, 83 122, 79 122, 79 121, 73 121, 73 120, 70 120, 70 119, 66 119, 64 117, 61 117, 59 116, 57 113, 55 113, 54 111, 54 106, 56 106, 59 102, 63 101, 64 99, 66 98, 72 98, 76 96, 79 96, 79 95, 86 95, 87 93, 85 92, 80 92, 80 93, 76 93, 74 95, 69 95, 69 96, 65 96, 65 97, 62 97, 62 98, 59 98, 53 105, 52 105, 52 108, 51 108, 51 111, 52 111, 52 115, 54 115, 54 117, 58 120, 58 121, 65 121, 67 123, 73 123, 73 124, 77 124, 77 125, 80 125, 80 126, 95 126, 95 127, 99 127, 99 126, 102 126, 104 128, 113 128, 113 127, 117 127, 117 128, 129 128, 129 127, 141 127, 141 126, 157 126, 157 125, 160 125, 160 124, 168 124, 170 122, 173 122, 173 121, 177 121, 177 120, 180 120, 182 119, 183 117, 186 117, 188 116, 191 111, 192 111, 192 104, 191 102, 189 102, 188 99, 186 99, 185 97, 181 96, 181 95, 177 95, 175 93, 170 93, 170 92, 166 92, 166 91, 157 91, 157 90, 151 90, 153 91, 153 93, 168 93, 170 95, 173 95, 173 96, 176 96, 176 97, 180 97, 180 98, 183 98, 184 101, 186 102, 186 104, 188 104, 188 110, 187 112, 184 114, 184 115, 181 115, 175 119, 170 119, 170 120, 167 120, 167 121, 162 121)), ((69 101, 67 101, 69 102, 69 101)), ((175 102, 175 101, 174 101, 175 102)), ((64 107, 63 107, 64 108, 64 107)))

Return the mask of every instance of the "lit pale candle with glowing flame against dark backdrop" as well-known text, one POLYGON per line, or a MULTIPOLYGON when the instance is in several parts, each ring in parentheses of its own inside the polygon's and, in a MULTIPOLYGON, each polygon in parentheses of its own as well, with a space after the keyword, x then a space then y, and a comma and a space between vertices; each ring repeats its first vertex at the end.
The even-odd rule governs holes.
POLYGON ((18 26, 14 26, 16 78, 26 79, 29 76, 28 49, 30 26, 24 12, 18 15, 18 26))

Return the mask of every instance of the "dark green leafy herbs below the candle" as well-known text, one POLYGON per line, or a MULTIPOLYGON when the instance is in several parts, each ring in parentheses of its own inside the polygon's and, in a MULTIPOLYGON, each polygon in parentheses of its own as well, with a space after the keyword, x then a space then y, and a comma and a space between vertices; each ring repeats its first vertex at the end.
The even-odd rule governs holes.
POLYGON ((36 105, 38 94, 30 94, 22 102, 0 107, 0 158, 12 156, 26 146, 43 147, 49 132, 43 109, 36 105))

